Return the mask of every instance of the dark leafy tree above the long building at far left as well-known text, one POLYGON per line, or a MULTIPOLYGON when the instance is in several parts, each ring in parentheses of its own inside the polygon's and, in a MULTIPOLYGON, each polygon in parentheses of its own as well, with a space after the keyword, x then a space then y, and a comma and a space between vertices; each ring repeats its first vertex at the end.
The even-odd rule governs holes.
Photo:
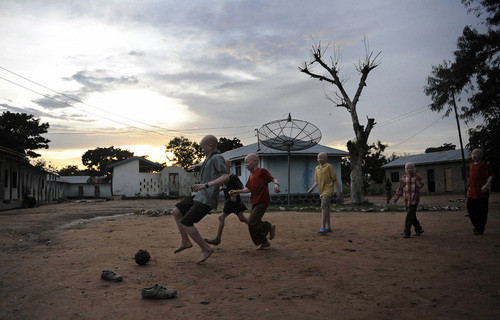
POLYGON ((49 148, 50 140, 41 136, 48 128, 48 123, 40 123, 31 114, 4 111, 0 115, 0 145, 37 158, 40 154, 33 150, 49 148))

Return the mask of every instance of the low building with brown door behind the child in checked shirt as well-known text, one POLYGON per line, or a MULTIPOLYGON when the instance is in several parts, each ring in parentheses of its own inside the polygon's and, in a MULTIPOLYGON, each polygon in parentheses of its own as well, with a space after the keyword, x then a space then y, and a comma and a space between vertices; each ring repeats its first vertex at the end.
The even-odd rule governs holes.
POLYGON ((432 153, 405 156, 382 166, 385 178, 392 182, 396 190, 400 179, 406 174, 405 164, 413 162, 424 180, 420 192, 424 194, 461 193, 465 194, 464 177, 468 176, 469 150, 464 150, 466 169, 462 165, 461 150, 447 150, 432 153))

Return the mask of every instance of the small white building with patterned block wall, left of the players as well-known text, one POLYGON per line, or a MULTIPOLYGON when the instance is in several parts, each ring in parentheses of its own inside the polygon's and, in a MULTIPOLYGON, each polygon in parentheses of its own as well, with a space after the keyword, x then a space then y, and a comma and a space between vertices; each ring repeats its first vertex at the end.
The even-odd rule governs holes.
POLYGON ((180 197, 191 194, 194 174, 177 166, 162 168, 142 157, 132 157, 108 166, 113 170, 113 197, 180 197))

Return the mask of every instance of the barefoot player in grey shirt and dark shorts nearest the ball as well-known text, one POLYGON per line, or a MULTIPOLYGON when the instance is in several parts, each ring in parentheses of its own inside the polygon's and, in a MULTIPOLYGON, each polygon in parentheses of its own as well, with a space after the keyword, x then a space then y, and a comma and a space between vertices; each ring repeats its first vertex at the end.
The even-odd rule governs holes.
POLYGON ((207 260, 214 249, 205 242, 194 224, 203 219, 210 210, 217 208, 219 185, 229 179, 224 158, 217 150, 217 138, 213 135, 205 136, 200 142, 200 147, 206 156, 205 161, 196 166, 201 172, 201 183, 193 185, 193 190, 196 192, 194 196, 183 198, 173 210, 182 239, 180 247, 174 253, 191 248, 193 246, 189 240, 191 238, 201 248, 198 263, 207 260))

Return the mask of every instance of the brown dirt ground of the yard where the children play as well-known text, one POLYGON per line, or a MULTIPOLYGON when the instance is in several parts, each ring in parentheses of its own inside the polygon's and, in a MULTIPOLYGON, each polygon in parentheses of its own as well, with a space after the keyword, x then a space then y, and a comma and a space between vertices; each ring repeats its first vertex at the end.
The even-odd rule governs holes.
MULTIPOLYGON (((450 199, 423 197, 460 210, 419 212, 425 233, 410 239, 404 212, 334 213, 334 232, 318 235, 319 213, 278 211, 264 219, 277 226, 271 247, 256 250, 230 216, 200 265, 196 246, 174 254, 172 216, 124 215, 176 200, 0 212, 0 319, 500 319, 500 195, 482 236, 450 199), (133 260, 139 249, 152 256, 146 266, 133 260), (101 280, 103 269, 123 282, 101 280), (141 299, 154 284, 177 297, 141 299)), ((217 217, 197 225, 202 236, 215 235, 217 217)))

